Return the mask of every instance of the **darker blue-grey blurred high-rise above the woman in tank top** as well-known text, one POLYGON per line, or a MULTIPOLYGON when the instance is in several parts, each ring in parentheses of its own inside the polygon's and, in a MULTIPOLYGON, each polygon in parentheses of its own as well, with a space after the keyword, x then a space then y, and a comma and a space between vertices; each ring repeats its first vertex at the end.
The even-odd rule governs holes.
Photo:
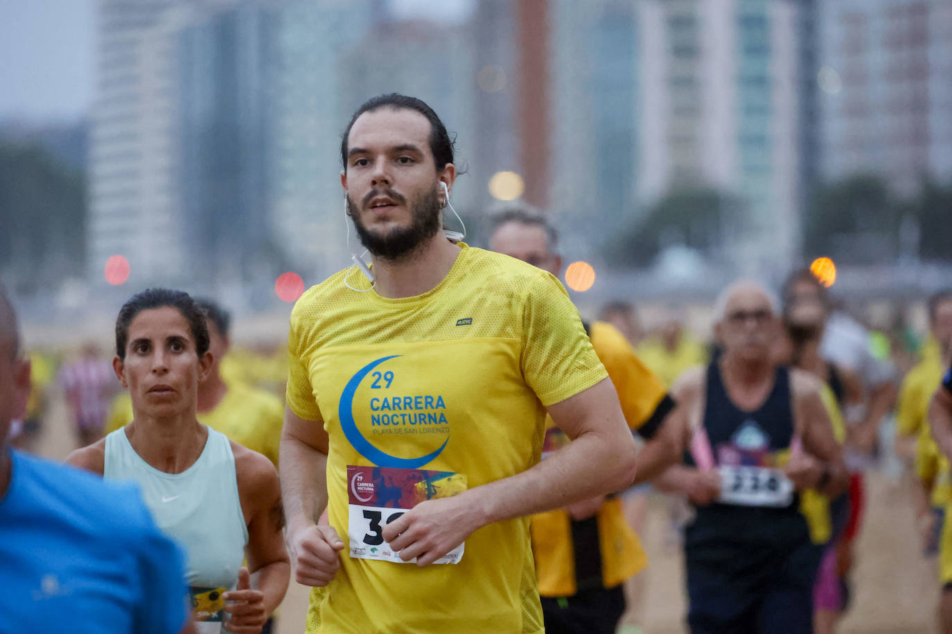
POLYGON ((193 270, 212 279, 274 279, 272 95, 274 2, 208 4, 178 35, 183 227, 193 270))

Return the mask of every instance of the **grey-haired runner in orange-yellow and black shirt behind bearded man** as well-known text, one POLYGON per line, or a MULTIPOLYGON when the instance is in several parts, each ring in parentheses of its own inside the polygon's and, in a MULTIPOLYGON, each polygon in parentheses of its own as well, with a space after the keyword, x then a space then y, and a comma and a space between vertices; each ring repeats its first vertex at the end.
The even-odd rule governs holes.
MULTIPOLYGON (((489 248, 559 276, 558 233, 545 216, 524 207, 509 207, 491 222, 489 248)), ((621 317, 629 328, 633 325, 630 312, 616 311, 615 317, 621 317)), ((645 439, 635 478, 645 482, 679 462, 684 451, 679 425, 666 423, 674 402, 621 332, 604 321, 586 324, 586 331, 618 393, 628 427, 645 439)), ((568 437, 549 419, 543 455, 567 443, 568 437)), ((636 497, 645 499, 644 494, 636 497)), ((645 550, 626 521, 619 495, 600 495, 533 515, 530 528, 545 631, 613 634, 625 612, 625 582, 647 565, 645 550)), ((631 625, 626 629, 637 631, 637 624, 631 625)))

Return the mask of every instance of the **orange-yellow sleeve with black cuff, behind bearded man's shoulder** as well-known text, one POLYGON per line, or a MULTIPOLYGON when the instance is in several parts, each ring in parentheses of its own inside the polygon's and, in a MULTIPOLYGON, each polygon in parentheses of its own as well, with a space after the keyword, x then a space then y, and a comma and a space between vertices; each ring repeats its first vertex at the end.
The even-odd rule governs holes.
POLYGON ((618 393, 628 427, 645 438, 652 437, 674 407, 674 401, 665 398, 664 383, 648 370, 625 336, 611 324, 593 323, 591 339, 618 393))

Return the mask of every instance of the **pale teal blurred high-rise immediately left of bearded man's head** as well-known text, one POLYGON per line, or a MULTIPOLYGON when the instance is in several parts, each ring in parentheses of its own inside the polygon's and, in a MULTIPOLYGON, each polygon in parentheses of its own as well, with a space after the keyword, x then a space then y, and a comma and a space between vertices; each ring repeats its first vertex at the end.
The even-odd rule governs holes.
MULTIPOLYGON (((339 57, 372 29, 382 5, 293 0, 279 18, 272 96, 272 226, 308 283, 349 261, 338 174, 340 134, 351 109, 341 94, 347 80, 339 57)), ((356 243, 353 236, 351 240, 356 243)))

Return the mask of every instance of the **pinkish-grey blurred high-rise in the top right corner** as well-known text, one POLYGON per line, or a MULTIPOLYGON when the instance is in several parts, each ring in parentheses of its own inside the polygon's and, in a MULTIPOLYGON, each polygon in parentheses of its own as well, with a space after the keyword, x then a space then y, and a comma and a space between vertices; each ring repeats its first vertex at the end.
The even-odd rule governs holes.
POLYGON ((820 3, 823 176, 952 179, 952 3, 820 3))

